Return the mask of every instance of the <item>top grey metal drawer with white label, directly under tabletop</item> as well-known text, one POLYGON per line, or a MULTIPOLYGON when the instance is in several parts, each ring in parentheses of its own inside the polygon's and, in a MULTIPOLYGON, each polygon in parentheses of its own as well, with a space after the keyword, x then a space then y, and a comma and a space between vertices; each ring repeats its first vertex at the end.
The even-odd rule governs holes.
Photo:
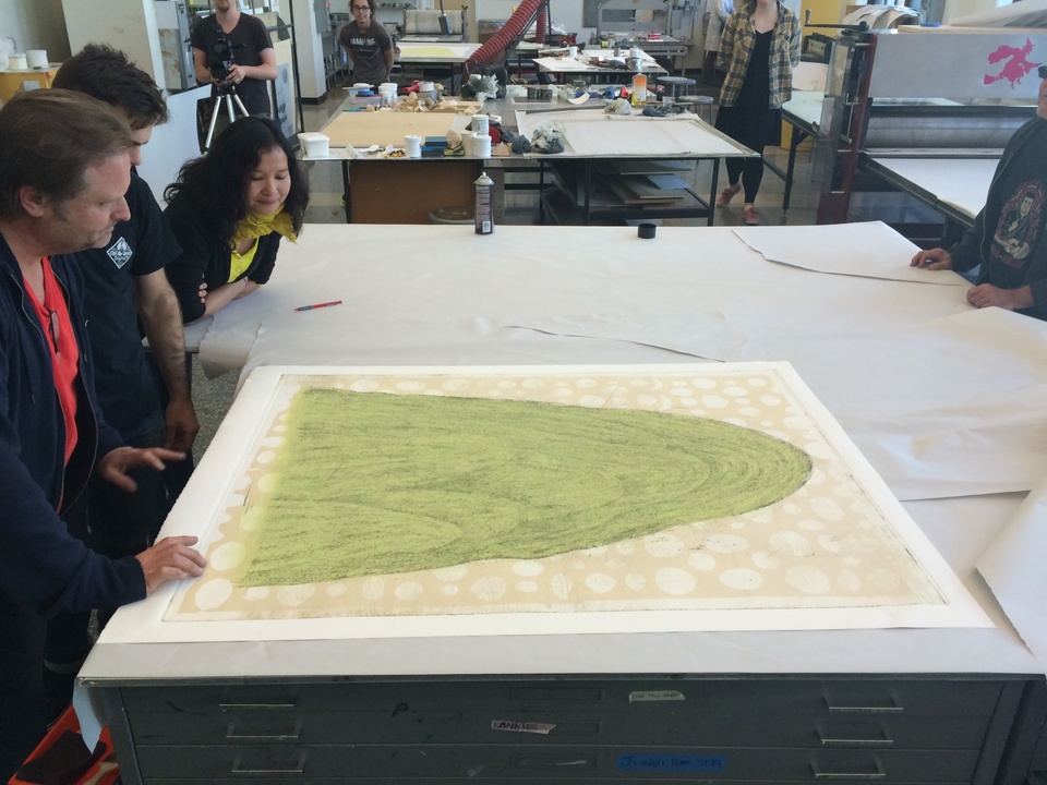
MULTIPOLYGON (((207 712, 230 708, 370 711, 448 708, 493 713, 550 709, 657 717, 863 714, 990 716, 1002 684, 994 680, 900 679, 559 679, 460 681, 335 681, 281 685, 123 687, 128 711, 207 712)), ((512 716, 510 716, 512 718, 512 716)))

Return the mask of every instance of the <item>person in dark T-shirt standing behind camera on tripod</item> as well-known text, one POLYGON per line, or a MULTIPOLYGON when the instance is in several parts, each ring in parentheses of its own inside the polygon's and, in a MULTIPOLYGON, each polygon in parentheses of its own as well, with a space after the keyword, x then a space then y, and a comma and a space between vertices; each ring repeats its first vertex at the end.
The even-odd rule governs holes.
MULTIPOLYGON (((219 88, 236 88, 249 114, 268 118, 272 107, 266 82, 276 80, 276 52, 262 20, 242 13, 237 1, 213 0, 215 13, 193 27, 190 40, 196 81, 213 85, 213 97, 219 95, 219 88)), ((219 122, 221 118, 228 120, 219 113, 219 122)))

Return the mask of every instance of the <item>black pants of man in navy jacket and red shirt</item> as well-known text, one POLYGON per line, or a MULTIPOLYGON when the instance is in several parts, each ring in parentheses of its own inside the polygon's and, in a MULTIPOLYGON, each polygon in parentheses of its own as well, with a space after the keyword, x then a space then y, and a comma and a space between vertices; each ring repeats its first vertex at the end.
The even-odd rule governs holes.
POLYGON ((0 591, 0 782, 14 775, 47 733, 44 619, 0 591))

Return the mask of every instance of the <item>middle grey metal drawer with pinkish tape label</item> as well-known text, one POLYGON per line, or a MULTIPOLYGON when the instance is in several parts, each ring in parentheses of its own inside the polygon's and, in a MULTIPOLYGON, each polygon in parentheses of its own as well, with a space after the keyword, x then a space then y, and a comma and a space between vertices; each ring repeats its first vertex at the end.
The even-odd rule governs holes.
POLYGON ((807 749, 979 749, 988 717, 695 714, 664 706, 657 715, 407 709, 305 712, 297 706, 135 712, 136 745, 167 744, 514 744, 802 747, 807 749))

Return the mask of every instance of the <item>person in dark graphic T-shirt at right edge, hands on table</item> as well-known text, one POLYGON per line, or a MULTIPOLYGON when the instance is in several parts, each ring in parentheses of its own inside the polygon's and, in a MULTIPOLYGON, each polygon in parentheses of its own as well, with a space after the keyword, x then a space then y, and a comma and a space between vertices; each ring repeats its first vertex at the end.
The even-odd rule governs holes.
POLYGON ((1047 319, 1047 65, 1039 68, 1036 117, 1003 150, 985 207, 951 249, 920 251, 914 267, 973 270, 967 302, 1047 319))

